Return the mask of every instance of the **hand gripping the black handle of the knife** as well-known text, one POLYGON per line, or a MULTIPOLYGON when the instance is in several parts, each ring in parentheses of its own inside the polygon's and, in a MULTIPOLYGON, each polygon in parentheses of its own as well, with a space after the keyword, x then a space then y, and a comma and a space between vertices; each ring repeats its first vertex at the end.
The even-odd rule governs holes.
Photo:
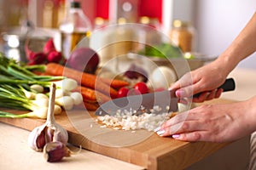
POLYGON ((177 97, 180 99, 201 93, 199 97, 193 98, 193 102, 218 98, 223 89, 217 88, 224 83, 227 77, 225 72, 224 67, 218 65, 218 61, 213 61, 211 64, 186 73, 170 89, 175 90, 177 97))

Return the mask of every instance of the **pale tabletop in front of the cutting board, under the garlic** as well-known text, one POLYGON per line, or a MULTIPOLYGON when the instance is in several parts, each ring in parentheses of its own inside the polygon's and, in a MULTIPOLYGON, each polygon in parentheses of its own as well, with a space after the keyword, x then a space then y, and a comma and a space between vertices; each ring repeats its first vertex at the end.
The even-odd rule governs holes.
MULTIPOLYGON (((0 169, 22 170, 141 170, 143 167, 119 161, 108 156, 102 156, 89 150, 81 150, 79 154, 66 157, 61 162, 49 163, 44 161, 42 152, 36 152, 27 145, 29 131, 19 127, 13 127, 0 122, 0 169)), ((78 151, 79 148, 72 148, 78 151)))

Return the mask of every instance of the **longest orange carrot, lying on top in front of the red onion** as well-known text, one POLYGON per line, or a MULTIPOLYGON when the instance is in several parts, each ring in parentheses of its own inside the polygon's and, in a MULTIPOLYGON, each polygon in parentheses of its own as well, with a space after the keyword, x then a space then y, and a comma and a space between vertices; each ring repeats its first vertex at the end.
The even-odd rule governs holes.
POLYGON ((87 88, 93 88, 104 94, 110 94, 112 98, 116 98, 118 94, 117 90, 102 82, 102 80, 95 75, 76 71, 72 68, 68 68, 57 63, 47 64, 45 68, 45 73, 53 76, 64 76, 72 78, 87 88))

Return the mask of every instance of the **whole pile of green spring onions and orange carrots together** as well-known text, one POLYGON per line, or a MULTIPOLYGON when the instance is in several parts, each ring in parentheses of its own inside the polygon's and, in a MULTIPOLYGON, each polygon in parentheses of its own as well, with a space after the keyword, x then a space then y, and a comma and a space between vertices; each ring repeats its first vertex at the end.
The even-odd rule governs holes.
MULTIPOLYGON (((45 51, 50 51, 49 48, 45 51)), ((100 104, 117 98, 119 88, 129 85, 122 80, 100 78, 55 62, 44 65, 26 65, 0 55, 0 106, 18 110, 35 111, 38 96, 48 102, 49 85, 57 86, 55 104, 66 110, 85 108, 95 111, 100 104), (8 97, 7 97, 8 96, 8 97)), ((42 102, 42 101, 40 101, 42 102)), ((40 103, 39 102, 39 103, 40 103)), ((43 107, 40 107, 42 110, 43 107)), ((18 117, 2 112, 3 117, 18 117)), ((28 114, 26 116, 32 116, 28 114)), ((20 116, 20 117, 26 117, 20 116)), ((44 116, 38 116, 44 117, 44 116)))

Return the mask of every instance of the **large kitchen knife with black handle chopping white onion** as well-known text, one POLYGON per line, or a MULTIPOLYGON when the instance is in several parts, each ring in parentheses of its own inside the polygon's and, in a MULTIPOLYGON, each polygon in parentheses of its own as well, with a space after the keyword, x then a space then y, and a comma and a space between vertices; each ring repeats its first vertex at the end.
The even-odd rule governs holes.
MULTIPOLYGON (((224 92, 234 90, 236 88, 234 79, 226 79, 224 84, 219 88, 223 88, 224 92)), ((198 97, 200 94, 195 94, 193 97, 198 97)), ((95 115, 115 116, 118 113, 139 115, 144 112, 163 113, 177 111, 177 102, 178 98, 176 97, 174 90, 163 90, 149 94, 131 95, 119 99, 113 99, 100 105, 96 110, 95 115)))

